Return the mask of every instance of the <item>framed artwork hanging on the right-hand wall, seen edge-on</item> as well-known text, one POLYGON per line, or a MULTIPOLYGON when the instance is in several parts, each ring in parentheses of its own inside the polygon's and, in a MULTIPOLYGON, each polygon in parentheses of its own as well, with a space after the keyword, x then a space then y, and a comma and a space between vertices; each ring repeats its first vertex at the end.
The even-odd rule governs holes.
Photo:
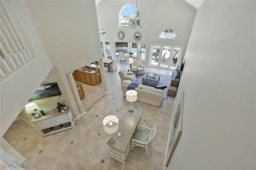
POLYGON ((174 115, 174 119, 172 120, 172 124, 171 124, 170 143, 168 147, 166 167, 169 165, 174 149, 182 133, 183 106, 184 106, 184 92, 182 92, 181 94, 180 102, 178 104, 176 113, 174 115))

